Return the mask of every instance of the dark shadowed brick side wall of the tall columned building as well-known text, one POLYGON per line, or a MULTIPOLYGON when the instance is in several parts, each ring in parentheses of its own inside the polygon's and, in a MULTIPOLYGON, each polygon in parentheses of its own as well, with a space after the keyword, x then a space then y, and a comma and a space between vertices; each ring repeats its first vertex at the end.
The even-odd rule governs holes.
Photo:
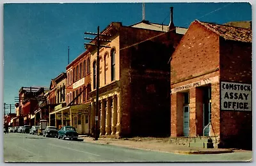
MULTIPOLYGON (((168 91, 170 88, 168 79, 170 78, 168 77, 170 75, 168 66, 170 54, 158 52, 162 56, 160 58, 158 54, 147 52, 148 42, 161 43, 166 40, 167 36, 163 35, 151 41, 142 42, 140 45, 134 45, 161 33, 163 32, 124 26, 120 29, 122 135, 170 135, 170 118, 168 118, 170 117, 168 91), (131 45, 134 46, 129 47, 131 45), (140 49, 142 45, 146 46, 145 49, 140 49), (154 59, 161 60, 161 63, 166 66, 159 65, 154 59), (153 61, 155 63, 152 63, 153 61), (145 65, 141 65, 143 68, 140 68, 138 64, 142 63, 145 65), (150 72, 145 72, 146 70, 150 72), (148 93, 148 86, 154 86, 154 92, 148 93)), ((169 43, 170 41, 164 44, 169 43)))

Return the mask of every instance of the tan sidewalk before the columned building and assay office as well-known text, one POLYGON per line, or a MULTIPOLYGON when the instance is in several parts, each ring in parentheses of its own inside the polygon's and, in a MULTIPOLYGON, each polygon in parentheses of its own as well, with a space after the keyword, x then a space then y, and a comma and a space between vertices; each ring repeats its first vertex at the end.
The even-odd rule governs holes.
POLYGON ((170 144, 168 138, 151 138, 151 137, 135 137, 129 139, 98 139, 93 140, 92 137, 85 135, 79 136, 84 142, 91 142, 96 144, 111 144, 115 146, 123 146, 136 149, 147 149, 154 151, 163 151, 167 153, 180 154, 218 154, 218 153, 232 153, 233 149, 206 149, 200 147, 180 146, 177 144, 170 144))

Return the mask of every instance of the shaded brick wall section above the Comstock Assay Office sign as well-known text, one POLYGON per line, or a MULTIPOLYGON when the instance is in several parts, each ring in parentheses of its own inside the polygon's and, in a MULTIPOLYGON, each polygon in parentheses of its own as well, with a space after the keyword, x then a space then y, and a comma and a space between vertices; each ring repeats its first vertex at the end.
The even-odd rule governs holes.
POLYGON ((220 80, 252 83, 252 43, 220 40, 220 80))

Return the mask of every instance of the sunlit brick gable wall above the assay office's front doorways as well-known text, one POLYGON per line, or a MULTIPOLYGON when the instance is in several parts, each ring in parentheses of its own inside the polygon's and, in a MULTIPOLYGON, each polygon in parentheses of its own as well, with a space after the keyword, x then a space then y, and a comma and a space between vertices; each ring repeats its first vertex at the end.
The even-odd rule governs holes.
POLYGON ((194 22, 172 55, 171 82, 191 77, 220 63, 219 36, 194 22))

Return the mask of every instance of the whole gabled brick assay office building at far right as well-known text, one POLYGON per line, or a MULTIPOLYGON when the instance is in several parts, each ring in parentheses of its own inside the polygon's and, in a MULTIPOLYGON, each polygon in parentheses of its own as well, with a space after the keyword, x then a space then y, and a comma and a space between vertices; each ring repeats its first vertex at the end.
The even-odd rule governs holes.
POLYGON ((251 29, 195 20, 170 66, 171 137, 252 147, 251 29))

